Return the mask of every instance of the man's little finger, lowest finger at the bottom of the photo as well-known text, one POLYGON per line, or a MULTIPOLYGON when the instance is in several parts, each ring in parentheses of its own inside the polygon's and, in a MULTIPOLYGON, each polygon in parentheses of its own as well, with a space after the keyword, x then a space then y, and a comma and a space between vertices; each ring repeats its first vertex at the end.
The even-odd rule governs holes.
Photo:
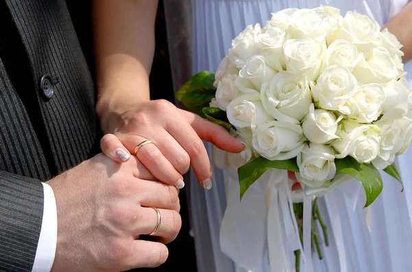
POLYGON ((124 265, 128 269, 135 267, 159 267, 168 259, 168 256, 168 247, 162 243, 134 240, 124 265))

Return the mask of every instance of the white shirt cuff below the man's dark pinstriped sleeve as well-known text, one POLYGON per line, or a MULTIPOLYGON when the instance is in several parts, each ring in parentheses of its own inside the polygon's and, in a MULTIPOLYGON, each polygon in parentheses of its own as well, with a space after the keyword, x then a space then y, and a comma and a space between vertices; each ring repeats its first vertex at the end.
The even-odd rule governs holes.
POLYGON ((32 272, 48 272, 52 269, 57 245, 57 209, 52 187, 43 183, 44 206, 40 236, 32 272))

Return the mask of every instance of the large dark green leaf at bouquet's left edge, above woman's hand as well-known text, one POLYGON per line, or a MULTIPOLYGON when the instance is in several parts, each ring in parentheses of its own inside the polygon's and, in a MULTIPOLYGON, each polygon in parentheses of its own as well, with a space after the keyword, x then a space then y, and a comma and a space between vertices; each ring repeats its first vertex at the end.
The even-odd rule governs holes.
POLYGON ((209 71, 197 73, 176 92, 176 99, 191 112, 205 118, 203 108, 209 107, 211 99, 216 94, 214 80, 214 73, 209 71))

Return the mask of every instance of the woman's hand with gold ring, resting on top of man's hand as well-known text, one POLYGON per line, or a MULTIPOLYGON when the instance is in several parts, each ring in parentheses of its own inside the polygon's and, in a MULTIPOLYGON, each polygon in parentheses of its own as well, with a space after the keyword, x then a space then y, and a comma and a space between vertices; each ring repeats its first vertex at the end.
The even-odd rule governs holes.
MULTIPOLYGON (((147 101, 122 114, 103 116, 106 116, 101 122, 105 133, 114 134, 157 180, 177 188, 183 188, 182 175, 189 170, 190 164, 201 185, 211 188, 211 164, 202 140, 232 153, 244 148, 220 125, 180 110, 165 100, 147 101), (145 140, 151 140, 154 145, 144 145, 135 154, 137 145, 145 140)), ((127 160, 128 154, 117 149, 118 145, 117 142, 108 147, 102 142, 102 151, 117 161, 121 157, 127 160)))

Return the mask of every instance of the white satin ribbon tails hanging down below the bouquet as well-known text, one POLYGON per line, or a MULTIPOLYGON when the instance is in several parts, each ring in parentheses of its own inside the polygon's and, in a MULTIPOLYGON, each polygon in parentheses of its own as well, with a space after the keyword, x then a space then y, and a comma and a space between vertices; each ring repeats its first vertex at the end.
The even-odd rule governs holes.
MULTIPOLYGON (((222 168, 227 166, 227 157, 218 149, 214 149, 213 161, 222 168)), ((304 245, 302 245, 286 171, 278 169, 266 171, 249 188, 242 202, 239 203, 238 175, 229 169, 227 194, 227 210, 220 228, 220 247, 233 262, 253 272, 263 271, 263 241, 267 238, 271 272, 295 271, 293 251, 297 249, 301 251, 305 271, 314 271, 311 249, 312 197, 304 197, 304 245), (262 207, 265 203, 266 211, 264 206, 262 207), (266 232, 262 232, 264 229, 266 232)))

